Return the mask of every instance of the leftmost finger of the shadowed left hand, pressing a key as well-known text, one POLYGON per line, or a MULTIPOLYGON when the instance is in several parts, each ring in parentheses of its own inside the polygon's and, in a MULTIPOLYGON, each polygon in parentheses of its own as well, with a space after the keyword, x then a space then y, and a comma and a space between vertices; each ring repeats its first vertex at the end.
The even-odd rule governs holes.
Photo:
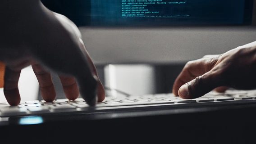
POLYGON ((20 72, 21 70, 14 71, 9 67, 5 67, 4 94, 10 105, 18 105, 20 103, 20 94, 18 90, 20 72))

